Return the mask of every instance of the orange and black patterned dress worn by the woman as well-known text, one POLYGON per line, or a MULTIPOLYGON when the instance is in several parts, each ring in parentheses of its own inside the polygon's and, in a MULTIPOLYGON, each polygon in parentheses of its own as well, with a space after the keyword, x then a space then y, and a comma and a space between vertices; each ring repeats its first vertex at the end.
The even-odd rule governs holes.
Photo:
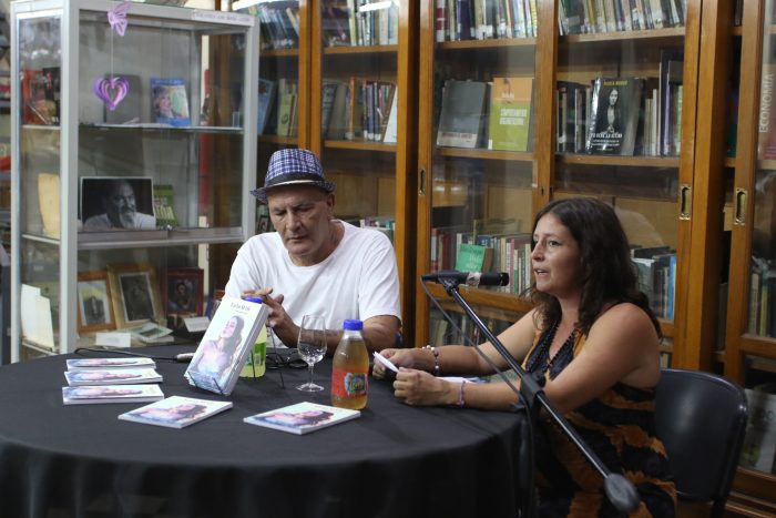
MULTIPOLYGON (((549 359, 554 327, 538 337, 524 368, 555 378, 582 351, 585 336, 572 333, 549 359)), ((641 497, 632 517, 671 518, 676 489, 663 443, 655 435, 655 392, 616 384, 565 414, 566 420, 610 471, 631 480, 641 497)), ((544 417, 538 434, 537 487, 540 517, 620 517, 606 499, 600 474, 557 425, 544 417)))

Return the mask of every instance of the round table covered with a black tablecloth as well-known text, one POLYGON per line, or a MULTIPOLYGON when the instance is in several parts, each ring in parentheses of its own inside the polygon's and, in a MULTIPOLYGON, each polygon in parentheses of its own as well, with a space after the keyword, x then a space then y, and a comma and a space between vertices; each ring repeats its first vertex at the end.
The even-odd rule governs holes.
MULTIPOLYGON (((142 349, 173 356, 193 347, 142 349)), ((410 407, 370 378, 358 419, 297 436, 243 423, 280 406, 329 403, 294 387, 305 370, 241 379, 234 408, 187 428, 119 420, 144 404, 62 404, 65 358, 0 367, 0 516, 514 517, 520 414, 410 407), (61 515, 49 515, 55 510, 61 515)), ((166 396, 185 364, 156 362, 166 396)))

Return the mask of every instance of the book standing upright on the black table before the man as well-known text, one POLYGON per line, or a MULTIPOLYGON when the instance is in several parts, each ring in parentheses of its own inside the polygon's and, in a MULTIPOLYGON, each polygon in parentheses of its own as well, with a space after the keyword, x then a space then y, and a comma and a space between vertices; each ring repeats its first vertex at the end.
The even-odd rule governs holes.
POLYGON ((223 297, 186 368, 188 383, 228 396, 267 319, 267 313, 264 304, 223 297))

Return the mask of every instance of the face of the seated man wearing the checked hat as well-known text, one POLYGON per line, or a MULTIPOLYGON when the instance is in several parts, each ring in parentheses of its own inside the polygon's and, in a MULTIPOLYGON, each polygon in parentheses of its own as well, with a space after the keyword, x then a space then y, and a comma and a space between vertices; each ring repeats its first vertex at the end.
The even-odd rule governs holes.
POLYGON ((275 187, 267 192, 267 204, 269 217, 294 263, 309 266, 331 253, 336 246, 329 225, 334 194, 315 186, 275 187))

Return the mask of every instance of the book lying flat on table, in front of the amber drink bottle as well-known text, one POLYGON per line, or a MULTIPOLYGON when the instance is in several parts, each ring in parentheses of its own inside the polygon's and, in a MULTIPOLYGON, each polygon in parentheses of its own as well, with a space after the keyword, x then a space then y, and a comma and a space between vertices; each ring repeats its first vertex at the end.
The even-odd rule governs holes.
POLYGON ((360 415, 359 410, 304 402, 248 416, 243 420, 249 425, 304 435, 355 419, 360 415))

